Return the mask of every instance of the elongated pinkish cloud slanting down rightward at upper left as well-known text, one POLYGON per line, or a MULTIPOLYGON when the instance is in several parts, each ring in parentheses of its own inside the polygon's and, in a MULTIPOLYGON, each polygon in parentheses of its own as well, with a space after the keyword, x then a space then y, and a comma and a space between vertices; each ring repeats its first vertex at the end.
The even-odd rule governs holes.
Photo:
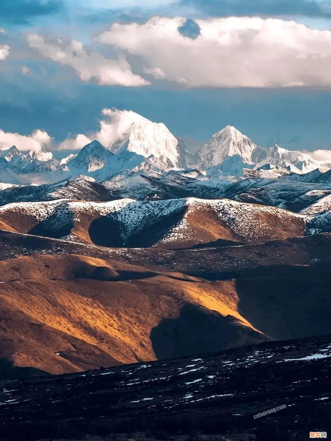
POLYGON ((42 56, 48 57, 60 64, 71 66, 82 81, 95 78, 100 85, 110 86, 145 86, 150 84, 139 75, 135 75, 130 64, 122 57, 119 60, 109 60, 98 52, 87 53, 80 41, 71 40, 62 45, 48 44, 44 37, 38 34, 28 34, 27 41, 31 48, 35 48, 42 56))

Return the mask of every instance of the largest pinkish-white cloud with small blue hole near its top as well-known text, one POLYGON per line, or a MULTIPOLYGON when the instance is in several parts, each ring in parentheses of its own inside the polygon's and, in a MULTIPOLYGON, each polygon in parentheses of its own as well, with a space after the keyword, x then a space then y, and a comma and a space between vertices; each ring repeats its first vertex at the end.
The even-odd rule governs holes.
POLYGON ((185 19, 153 17, 144 24, 113 23, 96 40, 140 56, 154 78, 189 87, 331 85, 329 30, 259 17, 195 21, 195 38, 178 29, 185 19))

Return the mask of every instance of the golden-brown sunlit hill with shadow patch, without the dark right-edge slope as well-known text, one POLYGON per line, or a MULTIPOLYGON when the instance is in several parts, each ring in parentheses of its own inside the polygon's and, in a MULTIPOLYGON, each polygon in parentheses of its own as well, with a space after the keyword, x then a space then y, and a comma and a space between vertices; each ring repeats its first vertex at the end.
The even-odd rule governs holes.
POLYGON ((233 282, 76 255, 34 254, 0 268, 0 351, 16 366, 55 374, 267 339, 238 314, 233 282))

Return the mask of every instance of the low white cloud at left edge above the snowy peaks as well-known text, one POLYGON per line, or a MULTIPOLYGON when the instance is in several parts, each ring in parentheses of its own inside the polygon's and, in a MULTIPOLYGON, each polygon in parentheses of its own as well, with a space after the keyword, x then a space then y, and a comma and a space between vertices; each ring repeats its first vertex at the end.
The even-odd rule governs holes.
POLYGON ((30 136, 0 130, 0 149, 16 146, 19 150, 40 150, 49 147, 51 140, 48 133, 42 130, 35 130, 30 136))

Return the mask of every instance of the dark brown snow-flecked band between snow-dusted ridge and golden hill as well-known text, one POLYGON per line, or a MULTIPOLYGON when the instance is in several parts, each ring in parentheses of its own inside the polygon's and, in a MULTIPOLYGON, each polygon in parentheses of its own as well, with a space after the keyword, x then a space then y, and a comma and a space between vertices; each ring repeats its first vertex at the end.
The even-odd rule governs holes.
POLYGON ((61 239, 0 230, 0 259, 31 253, 80 254, 143 266, 153 271, 179 271, 209 280, 234 278, 238 273, 270 265, 331 265, 331 233, 293 237, 235 247, 185 250, 106 248, 61 239))

